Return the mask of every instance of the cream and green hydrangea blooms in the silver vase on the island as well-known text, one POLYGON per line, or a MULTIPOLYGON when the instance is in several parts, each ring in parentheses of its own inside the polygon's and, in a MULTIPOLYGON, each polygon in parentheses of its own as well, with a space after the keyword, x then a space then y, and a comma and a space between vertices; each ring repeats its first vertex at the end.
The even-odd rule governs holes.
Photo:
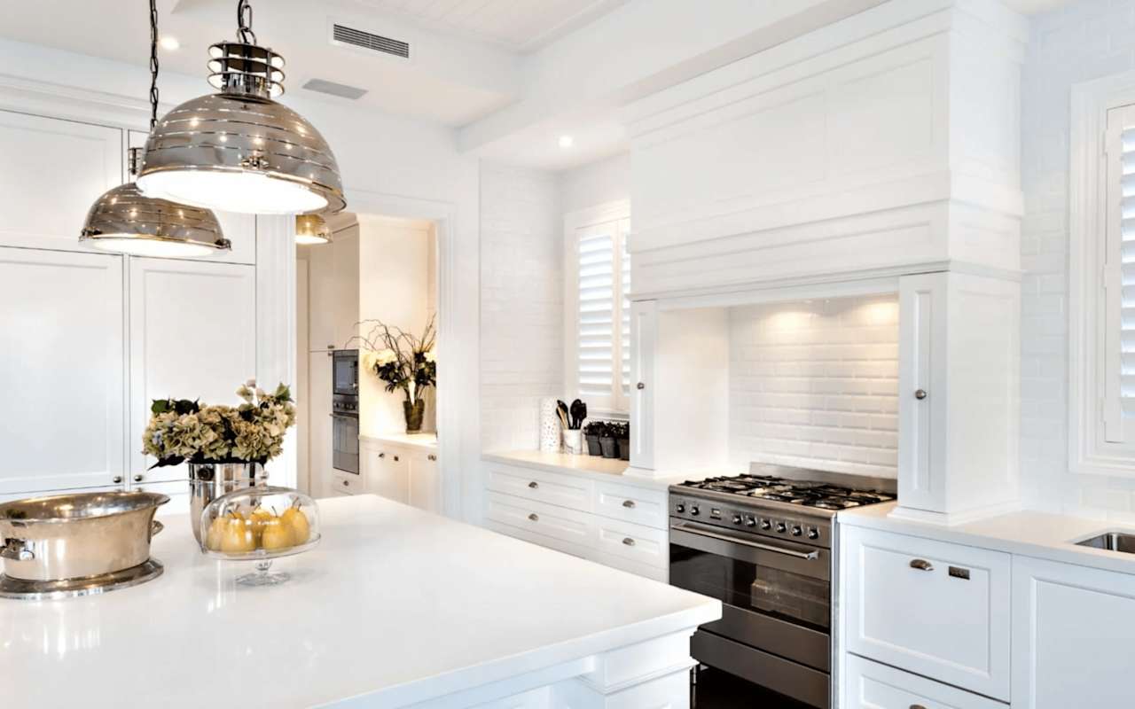
POLYGON ((272 394, 242 385, 238 406, 202 405, 188 399, 155 399, 142 434, 142 453, 153 467, 180 463, 260 463, 280 454, 284 433, 295 424, 292 393, 283 383, 272 394))

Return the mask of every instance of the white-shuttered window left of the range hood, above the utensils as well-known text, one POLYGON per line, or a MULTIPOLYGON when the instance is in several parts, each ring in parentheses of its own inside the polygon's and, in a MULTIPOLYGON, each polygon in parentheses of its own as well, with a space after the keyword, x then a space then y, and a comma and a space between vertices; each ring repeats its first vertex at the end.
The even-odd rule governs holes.
POLYGON ((609 210, 599 218, 565 220, 569 394, 591 413, 624 414, 630 400, 630 221, 613 218, 609 210))

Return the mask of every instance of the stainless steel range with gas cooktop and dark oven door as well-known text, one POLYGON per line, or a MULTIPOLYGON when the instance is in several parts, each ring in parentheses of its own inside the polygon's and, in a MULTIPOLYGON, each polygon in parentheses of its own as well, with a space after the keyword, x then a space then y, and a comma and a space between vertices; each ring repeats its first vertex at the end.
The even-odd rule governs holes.
POLYGON ((813 707, 831 702, 834 517, 896 483, 780 465, 670 488, 670 582, 722 601, 698 661, 813 707))

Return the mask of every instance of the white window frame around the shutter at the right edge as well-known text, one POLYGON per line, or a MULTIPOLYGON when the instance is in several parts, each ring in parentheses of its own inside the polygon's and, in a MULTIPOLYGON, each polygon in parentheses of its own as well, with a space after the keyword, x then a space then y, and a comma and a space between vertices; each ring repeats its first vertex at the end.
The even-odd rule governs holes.
MULTIPOLYGON (((1135 478, 1135 421, 1117 436, 1105 423, 1116 417, 1118 386, 1109 349, 1108 289, 1117 288, 1116 261, 1109 265, 1108 113, 1135 105, 1135 71, 1073 86, 1068 192, 1068 466, 1075 473, 1135 478), (1109 411, 1110 406, 1110 411, 1109 411), (1121 438, 1123 440, 1108 440, 1121 438)), ((1115 152, 1112 150, 1112 152, 1115 152)), ((1115 159, 1119 159, 1115 157, 1115 159)), ((1111 335, 1115 337, 1115 334, 1111 335)))

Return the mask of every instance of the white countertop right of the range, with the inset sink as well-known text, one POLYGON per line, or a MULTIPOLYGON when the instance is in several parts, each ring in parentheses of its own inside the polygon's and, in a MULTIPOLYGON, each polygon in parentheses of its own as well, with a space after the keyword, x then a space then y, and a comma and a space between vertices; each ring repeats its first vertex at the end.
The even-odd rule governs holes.
MULTIPOLYGON (((896 503, 871 505, 839 513, 842 524, 866 526, 913 537, 995 549, 1066 564, 1135 574, 1135 554, 1077 547, 1075 542, 1123 525, 1044 512, 1022 510, 966 524, 941 526, 889 517, 896 503)), ((1127 530, 1133 531, 1133 530, 1127 530)))

